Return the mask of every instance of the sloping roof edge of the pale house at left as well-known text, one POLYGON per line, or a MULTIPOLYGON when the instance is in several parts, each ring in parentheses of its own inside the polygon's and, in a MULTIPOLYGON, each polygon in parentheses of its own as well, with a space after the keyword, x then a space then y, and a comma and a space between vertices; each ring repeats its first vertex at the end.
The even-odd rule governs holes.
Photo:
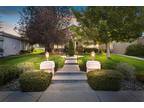
POLYGON ((0 31, 0 36, 2 37, 8 37, 8 38, 12 38, 12 39, 17 39, 17 40, 22 40, 22 41, 26 41, 26 39, 22 38, 22 37, 18 37, 3 31, 0 31))

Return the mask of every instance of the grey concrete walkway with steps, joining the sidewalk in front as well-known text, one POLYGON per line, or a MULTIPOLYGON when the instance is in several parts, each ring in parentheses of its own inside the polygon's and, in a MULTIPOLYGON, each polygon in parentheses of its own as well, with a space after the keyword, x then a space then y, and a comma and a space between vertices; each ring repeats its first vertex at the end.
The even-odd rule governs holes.
POLYGON ((141 102, 144 91, 94 91, 87 84, 76 58, 66 58, 52 84, 44 92, 0 92, 0 101, 10 102, 141 102))

